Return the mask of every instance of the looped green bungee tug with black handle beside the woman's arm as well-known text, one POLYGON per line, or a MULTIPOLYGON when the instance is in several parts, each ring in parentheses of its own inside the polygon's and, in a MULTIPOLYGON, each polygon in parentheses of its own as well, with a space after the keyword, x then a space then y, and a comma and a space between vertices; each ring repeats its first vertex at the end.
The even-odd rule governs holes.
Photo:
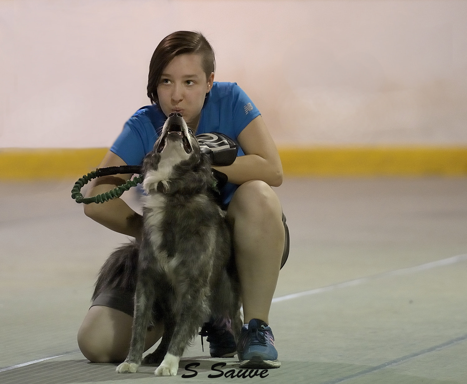
POLYGON ((141 169, 141 165, 120 165, 119 167, 98 168, 97 170, 89 172, 87 175, 78 179, 71 190, 71 198, 75 199, 77 203, 91 204, 104 203, 105 201, 111 200, 115 197, 120 197, 123 192, 128 191, 131 187, 134 187, 143 181, 144 176, 141 174, 141 169), (97 196, 83 197, 83 194, 81 193, 81 188, 83 188, 83 186, 93 178, 127 173, 138 173, 140 175, 133 178, 133 180, 128 180, 125 184, 114 188, 112 191, 101 193, 97 196))

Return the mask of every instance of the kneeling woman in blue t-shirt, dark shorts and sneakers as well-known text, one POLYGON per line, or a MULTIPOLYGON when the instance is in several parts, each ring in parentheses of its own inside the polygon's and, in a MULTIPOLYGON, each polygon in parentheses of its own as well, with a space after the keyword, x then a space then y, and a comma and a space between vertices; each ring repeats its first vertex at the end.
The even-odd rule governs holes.
MULTIPOLYGON (((276 368, 277 351, 269 324, 269 308, 281 267, 285 233, 282 208, 270 186, 282 184, 276 146, 253 102, 234 83, 214 82, 211 45, 196 32, 178 31, 157 46, 149 65, 151 106, 138 110, 99 167, 141 164, 157 139, 156 129, 172 112, 181 113, 196 134, 222 132, 240 144, 229 166, 213 167, 229 183, 221 197, 232 224, 239 272, 244 326, 238 343, 241 366, 276 368)), ((92 180, 87 195, 121 185, 132 175, 92 180)), ((121 199, 85 206, 85 214, 138 242, 142 216, 121 199)), ((285 255, 285 258, 287 255, 285 255)), ((133 292, 106 292, 95 298, 78 332, 78 345, 92 362, 119 362, 131 339, 133 292)), ((233 356, 237 346, 226 322, 205 323, 212 356, 233 356)), ((145 350, 161 337, 162 324, 148 330, 145 350)))

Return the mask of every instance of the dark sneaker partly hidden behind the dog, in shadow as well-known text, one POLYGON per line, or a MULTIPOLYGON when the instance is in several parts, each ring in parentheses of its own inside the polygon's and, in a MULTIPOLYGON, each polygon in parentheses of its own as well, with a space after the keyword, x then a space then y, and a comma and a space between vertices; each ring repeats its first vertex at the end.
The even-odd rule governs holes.
POLYGON ((201 327, 201 344, 207 336, 211 357, 233 357, 237 353, 237 344, 233 338, 230 319, 213 319, 201 327))

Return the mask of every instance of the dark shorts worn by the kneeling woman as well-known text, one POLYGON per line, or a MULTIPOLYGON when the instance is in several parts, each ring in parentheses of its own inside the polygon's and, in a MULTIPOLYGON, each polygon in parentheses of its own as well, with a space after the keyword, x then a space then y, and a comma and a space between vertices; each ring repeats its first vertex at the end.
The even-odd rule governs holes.
MULTIPOLYGON (((282 214, 282 222, 285 230, 285 242, 284 242, 284 251, 282 254, 281 269, 284 266, 287 258, 289 257, 290 249, 290 236, 289 228, 285 222, 285 215, 282 214)), ((133 307, 134 307, 134 292, 122 291, 122 290, 112 290, 102 292, 93 302, 91 306, 108 306, 113 309, 117 309, 123 313, 133 317, 133 307)))

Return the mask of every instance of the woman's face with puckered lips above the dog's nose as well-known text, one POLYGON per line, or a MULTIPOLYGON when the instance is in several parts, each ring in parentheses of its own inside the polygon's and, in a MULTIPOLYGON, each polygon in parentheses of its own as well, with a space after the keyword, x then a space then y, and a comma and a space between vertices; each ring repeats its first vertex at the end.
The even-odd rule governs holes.
POLYGON ((166 116, 172 112, 182 114, 187 124, 196 129, 206 93, 211 90, 214 73, 209 78, 203 71, 201 56, 178 55, 164 68, 157 95, 166 116))

